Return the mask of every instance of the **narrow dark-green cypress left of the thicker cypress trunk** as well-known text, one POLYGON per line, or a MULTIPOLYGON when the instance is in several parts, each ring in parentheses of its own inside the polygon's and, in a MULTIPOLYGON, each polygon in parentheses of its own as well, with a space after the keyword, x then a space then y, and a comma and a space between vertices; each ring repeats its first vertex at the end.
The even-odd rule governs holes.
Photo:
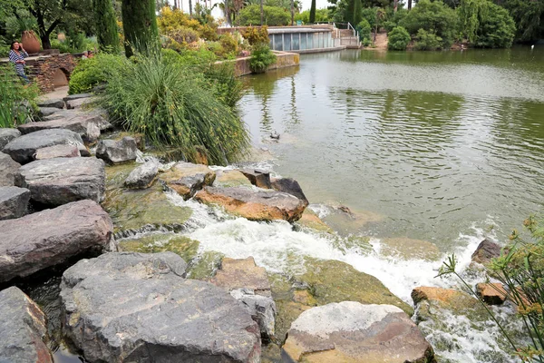
POLYGON ((102 51, 119 54, 119 34, 117 34, 117 19, 113 12, 112 0, 93 0, 96 38, 102 51))

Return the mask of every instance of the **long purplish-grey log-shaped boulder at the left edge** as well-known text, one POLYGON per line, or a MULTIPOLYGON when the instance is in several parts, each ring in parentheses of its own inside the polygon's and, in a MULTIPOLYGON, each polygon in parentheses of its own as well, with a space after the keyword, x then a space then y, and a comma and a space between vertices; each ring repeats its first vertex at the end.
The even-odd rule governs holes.
POLYGON ((112 220, 94 201, 74 201, 0 221, 0 231, 0 282, 29 276, 80 253, 112 248, 112 220))

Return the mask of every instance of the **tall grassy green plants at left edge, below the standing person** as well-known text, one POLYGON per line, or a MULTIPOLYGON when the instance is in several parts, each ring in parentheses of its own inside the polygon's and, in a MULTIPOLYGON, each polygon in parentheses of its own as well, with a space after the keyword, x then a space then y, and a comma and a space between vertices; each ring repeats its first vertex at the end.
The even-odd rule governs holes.
POLYGON ((15 127, 32 117, 37 96, 37 86, 24 86, 11 64, 0 66, 0 128, 15 127), (30 107, 22 106, 26 101, 30 107))

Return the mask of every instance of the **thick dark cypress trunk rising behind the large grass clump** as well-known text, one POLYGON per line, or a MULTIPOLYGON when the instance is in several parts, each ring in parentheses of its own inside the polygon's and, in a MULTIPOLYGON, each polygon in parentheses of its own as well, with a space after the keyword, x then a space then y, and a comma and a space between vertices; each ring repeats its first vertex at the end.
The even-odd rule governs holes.
POLYGON ((154 0, 122 0, 122 28, 125 35, 125 53, 134 54, 132 47, 142 53, 159 42, 159 29, 155 16, 154 0))

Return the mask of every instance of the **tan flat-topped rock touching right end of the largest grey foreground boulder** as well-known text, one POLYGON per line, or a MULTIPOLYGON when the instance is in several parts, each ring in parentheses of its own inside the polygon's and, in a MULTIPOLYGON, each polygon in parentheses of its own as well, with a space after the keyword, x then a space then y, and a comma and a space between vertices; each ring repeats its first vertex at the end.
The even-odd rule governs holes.
POLYGON ((243 260, 224 258, 220 270, 210 282, 228 291, 246 288, 257 295, 270 296, 267 270, 257 267, 253 257, 243 260))

